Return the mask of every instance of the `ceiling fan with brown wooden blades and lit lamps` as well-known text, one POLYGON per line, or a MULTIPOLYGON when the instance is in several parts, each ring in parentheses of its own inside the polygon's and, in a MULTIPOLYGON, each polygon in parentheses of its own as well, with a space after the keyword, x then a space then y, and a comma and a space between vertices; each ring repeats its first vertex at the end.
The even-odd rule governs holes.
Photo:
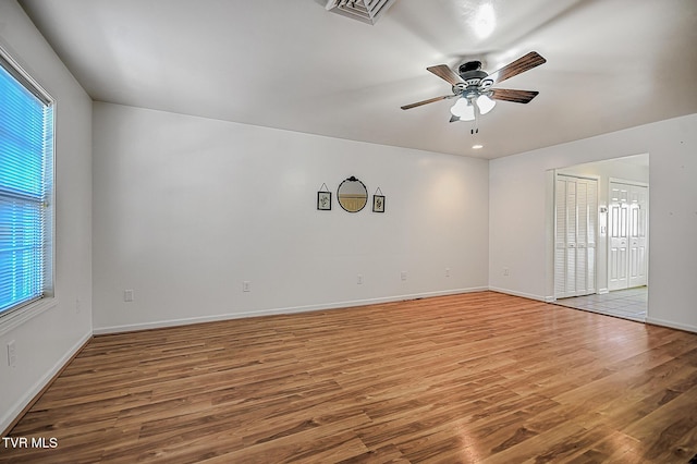
POLYGON ((450 122, 461 120, 475 121, 475 125, 472 129, 474 134, 479 131, 476 126, 477 119, 480 114, 491 111, 496 100, 527 103, 539 94, 535 90, 513 90, 509 88, 492 88, 492 86, 546 62, 547 60, 538 52, 530 51, 491 74, 487 74, 486 71, 481 70, 480 61, 467 61, 461 64, 457 68, 457 73, 447 64, 429 66, 427 68, 428 71, 453 86, 453 94, 429 98, 428 100, 405 105, 401 108, 408 110, 435 101, 457 98, 455 105, 450 109, 452 113, 450 122))

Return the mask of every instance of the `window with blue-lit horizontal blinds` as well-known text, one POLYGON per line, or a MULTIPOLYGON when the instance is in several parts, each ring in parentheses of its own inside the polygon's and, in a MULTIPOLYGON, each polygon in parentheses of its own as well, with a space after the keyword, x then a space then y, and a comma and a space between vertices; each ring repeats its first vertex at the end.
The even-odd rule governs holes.
POLYGON ((52 295, 53 101, 0 50, 0 318, 52 295))

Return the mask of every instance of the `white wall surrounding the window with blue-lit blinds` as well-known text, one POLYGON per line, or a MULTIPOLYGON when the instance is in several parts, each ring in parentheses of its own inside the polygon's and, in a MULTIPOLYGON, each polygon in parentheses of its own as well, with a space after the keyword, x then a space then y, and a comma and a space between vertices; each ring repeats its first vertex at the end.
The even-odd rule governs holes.
POLYGON ((91 100, 14 1, 0 2, 0 46, 57 100, 58 304, 0 334, 2 353, 14 341, 17 355, 14 368, 0 357, 4 430, 91 335, 91 100))

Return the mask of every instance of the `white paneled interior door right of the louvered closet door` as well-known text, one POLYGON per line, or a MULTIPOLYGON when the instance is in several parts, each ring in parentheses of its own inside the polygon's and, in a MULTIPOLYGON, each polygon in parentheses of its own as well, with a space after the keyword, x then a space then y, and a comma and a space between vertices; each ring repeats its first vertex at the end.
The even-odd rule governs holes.
POLYGON ((610 182, 608 289, 647 284, 648 187, 610 182))

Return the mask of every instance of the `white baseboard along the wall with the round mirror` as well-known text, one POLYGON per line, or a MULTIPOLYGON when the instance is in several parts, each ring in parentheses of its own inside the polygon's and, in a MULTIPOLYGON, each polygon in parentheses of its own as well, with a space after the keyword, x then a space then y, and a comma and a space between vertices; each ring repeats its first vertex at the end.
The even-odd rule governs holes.
POLYGON ((218 315, 211 315, 211 316, 189 317, 189 318, 181 318, 181 319, 157 320, 152 322, 130 323, 130 325, 123 325, 123 326, 96 327, 93 329, 93 332, 95 335, 102 335, 108 333, 132 332, 136 330, 161 329, 166 327, 186 326, 191 323, 242 319, 245 317, 308 313, 313 310, 339 309, 339 308, 346 308, 352 306, 367 306, 367 305, 375 305, 380 303, 393 303, 393 302, 402 302, 407 300, 428 298, 432 296, 447 296, 447 295, 456 295, 461 293, 485 292, 487 290, 489 290, 488 286, 475 286, 469 289, 453 289, 453 290, 443 290, 443 291, 437 291, 437 292, 414 293, 408 295, 387 296, 387 297, 380 297, 380 298, 353 300, 353 301, 346 301, 346 302, 328 303, 328 304, 319 304, 319 305, 290 306, 290 307, 282 307, 282 308, 250 310, 250 312, 243 312, 243 313, 229 313, 229 314, 218 314, 218 315))

